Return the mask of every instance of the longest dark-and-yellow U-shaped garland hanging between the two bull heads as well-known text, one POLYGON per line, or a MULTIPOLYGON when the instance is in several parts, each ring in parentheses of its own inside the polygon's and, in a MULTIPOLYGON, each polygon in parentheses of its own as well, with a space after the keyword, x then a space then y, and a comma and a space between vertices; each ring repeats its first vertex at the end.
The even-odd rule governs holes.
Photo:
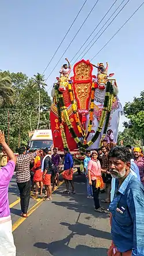
MULTIPOLYGON (((101 133, 101 130, 103 129, 103 125, 104 125, 105 118, 106 118, 106 115, 107 115, 108 107, 110 106, 110 103, 109 103, 110 92, 111 92, 111 82, 107 82, 107 88, 106 88, 105 100, 104 100, 104 107, 103 107, 103 111, 102 111, 102 114, 101 114, 101 119, 100 119, 100 123, 98 125, 98 129, 97 129, 96 133, 94 134, 92 140, 90 140, 86 144, 82 144, 82 142, 77 137, 77 134, 75 134, 73 126, 71 125, 71 121, 70 121, 70 118, 69 118, 69 115, 68 115, 68 112, 67 112, 67 108, 65 107, 65 103, 64 103, 64 100, 63 100, 63 94, 58 91, 58 97, 59 97, 58 101, 59 101, 59 105, 60 105, 60 108, 61 108, 60 111, 63 112, 63 116, 65 118, 65 122, 67 124, 67 127, 69 128, 69 131, 70 131, 72 137, 74 138, 75 142, 77 142, 77 144, 79 146, 79 149, 82 150, 82 151, 84 151, 86 148, 88 148, 90 145, 92 145, 97 140, 98 136, 101 133)), ((64 131, 64 133, 65 133, 65 131, 64 131)))

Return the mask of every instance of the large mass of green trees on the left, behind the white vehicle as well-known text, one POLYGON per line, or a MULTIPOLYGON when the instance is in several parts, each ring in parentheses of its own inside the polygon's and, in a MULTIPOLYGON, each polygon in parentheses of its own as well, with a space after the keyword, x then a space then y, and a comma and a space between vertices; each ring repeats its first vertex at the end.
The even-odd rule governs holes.
MULTIPOLYGON (((36 86, 36 77, 28 78, 22 73, 10 73, 4 71, 0 73, 0 86, 1 77, 10 77, 11 89, 13 93, 10 96, 10 100, 0 101, 0 129, 5 132, 6 140, 8 135, 8 123, 9 123, 9 142, 10 147, 15 150, 18 145, 27 145, 29 137, 28 131, 30 127, 30 116, 32 130, 37 129, 38 114, 39 114, 39 91, 40 91, 40 122, 46 122, 49 119, 49 111, 51 106, 51 98, 44 89, 44 76, 39 74, 42 78, 40 87, 36 86), (35 85, 35 86, 34 86, 35 85), (42 86, 43 85, 43 86, 42 86), (44 118, 44 115, 47 118, 44 118)), ((9 85, 10 86, 10 85, 9 85)), ((1 89, 0 89, 1 95, 1 89)), ((2 96, 1 96, 2 97, 2 96)), ((47 124, 48 125, 48 124, 47 124)))

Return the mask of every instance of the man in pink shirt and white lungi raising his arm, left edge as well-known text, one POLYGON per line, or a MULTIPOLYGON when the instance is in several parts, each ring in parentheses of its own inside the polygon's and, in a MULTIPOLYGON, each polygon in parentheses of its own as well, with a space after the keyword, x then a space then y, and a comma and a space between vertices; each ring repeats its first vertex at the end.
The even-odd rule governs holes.
POLYGON ((0 144, 3 146, 9 162, 0 170, 0 255, 16 256, 12 234, 12 220, 9 209, 8 189, 16 165, 16 157, 5 142, 5 135, 0 130, 0 144))

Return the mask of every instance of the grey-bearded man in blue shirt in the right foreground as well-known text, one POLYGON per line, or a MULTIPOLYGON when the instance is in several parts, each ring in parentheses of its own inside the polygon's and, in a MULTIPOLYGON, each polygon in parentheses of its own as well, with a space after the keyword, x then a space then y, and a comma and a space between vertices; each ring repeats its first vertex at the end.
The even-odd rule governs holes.
POLYGON ((112 214, 111 235, 113 248, 126 255, 144 255, 144 189, 143 185, 130 172, 131 153, 124 146, 116 146, 109 152, 109 171, 116 179, 116 190, 109 205, 112 214), (117 182, 118 181, 118 182, 117 182))

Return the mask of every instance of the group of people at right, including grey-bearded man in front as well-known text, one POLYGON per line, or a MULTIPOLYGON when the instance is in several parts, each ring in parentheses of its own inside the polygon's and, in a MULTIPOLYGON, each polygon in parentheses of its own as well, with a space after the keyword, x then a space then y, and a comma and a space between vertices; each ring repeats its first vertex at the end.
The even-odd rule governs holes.
POLYGON ((144 255, 144 158, 139 147, 104 145, 87 150, 84 159, 87 197, 99 213, 110 213, 112 244, 108 256, 144 255), (109 208, 100 206, 99 193, 107 191, 109 208))

